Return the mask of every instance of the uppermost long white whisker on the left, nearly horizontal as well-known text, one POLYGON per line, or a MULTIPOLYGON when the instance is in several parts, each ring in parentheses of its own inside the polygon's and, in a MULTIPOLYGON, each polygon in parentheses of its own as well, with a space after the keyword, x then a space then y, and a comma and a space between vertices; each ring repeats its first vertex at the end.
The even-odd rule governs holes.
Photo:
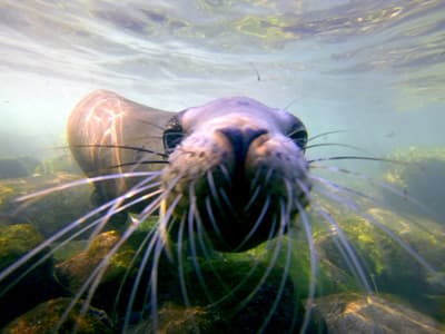
POLYGON ((36 197, 40 196, 46 196, 56 191, 61 191, 69 189, 71 187, 77 187, 77 186, 82 186, 82 185, 88 185, 88 184, 95 184, 95 183, 100 183, 109 179, 119 179, 119 178, 134 178, 134 177, 147 177, 147 176, 159 176, 160 171, 130 171, 130 173, 117 173, 117 174, 108 174, 108 175, 101 175, 101 176, 96 176, 96 177, 88 177, 88 178, 81 178, 79 180, 75 180, 71 183, 67 183, 60 186, 51 187, 48 189, 39 190, 32 194, 23 195, 18 198, 16 198, 16 202, 24 202, 29 200, 36 197))

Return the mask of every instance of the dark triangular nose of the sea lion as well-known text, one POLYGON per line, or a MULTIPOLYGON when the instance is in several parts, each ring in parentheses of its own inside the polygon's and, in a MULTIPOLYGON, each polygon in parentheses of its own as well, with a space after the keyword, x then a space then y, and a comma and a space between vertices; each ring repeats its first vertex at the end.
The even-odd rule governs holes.
POLYGON ((245 160, 247 150, 250 144, 261 135, 267 134, 266 129, 253 129, 253 128, 224 128, 219 130, 230 141, 237 163, 245 160))

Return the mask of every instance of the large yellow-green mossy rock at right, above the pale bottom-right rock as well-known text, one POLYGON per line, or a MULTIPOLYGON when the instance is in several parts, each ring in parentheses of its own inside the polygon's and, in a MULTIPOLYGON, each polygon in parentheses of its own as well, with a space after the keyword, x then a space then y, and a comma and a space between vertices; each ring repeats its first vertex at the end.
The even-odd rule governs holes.
MULTIPOLYGON (((411 220, 377 208, 364 212, 364 216, 349 214, 336 220, 368 278, 369 288, 398 295, 417 310, 445 320, 438 298, 445 293, 441 275, 445 273, 445 245, 441 242, 439 224, 425 218, 411 220)), ((323 258, 350 272, 350 259, 345 259, 338 244, 342 240, 337 233, 317 240, 323 258)))

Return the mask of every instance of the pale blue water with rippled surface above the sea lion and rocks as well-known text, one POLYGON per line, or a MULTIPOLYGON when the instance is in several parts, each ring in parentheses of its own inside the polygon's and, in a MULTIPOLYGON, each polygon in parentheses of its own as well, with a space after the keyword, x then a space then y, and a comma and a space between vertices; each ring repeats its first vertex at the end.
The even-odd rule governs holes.
POLYGON ((431 151, 442 163, 413 196, 437 188, 425 204, 445 217, 444 1, 120 2, 0 0, 0 158, 66 155, 68 115, 93 89, 171 111, 248 96, 358 155, 431 151))

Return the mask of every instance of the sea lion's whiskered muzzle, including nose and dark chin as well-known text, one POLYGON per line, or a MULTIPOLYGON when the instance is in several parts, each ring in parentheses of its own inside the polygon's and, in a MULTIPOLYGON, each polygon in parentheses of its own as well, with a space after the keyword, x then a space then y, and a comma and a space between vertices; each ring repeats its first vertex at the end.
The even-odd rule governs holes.
POLYGON ((170 239, 197 237, 211 249, 244 252, 286 234, 308 203, 303 150, 266 130, 199 138, 200 145, 186 138, 162 173, 170 239))

